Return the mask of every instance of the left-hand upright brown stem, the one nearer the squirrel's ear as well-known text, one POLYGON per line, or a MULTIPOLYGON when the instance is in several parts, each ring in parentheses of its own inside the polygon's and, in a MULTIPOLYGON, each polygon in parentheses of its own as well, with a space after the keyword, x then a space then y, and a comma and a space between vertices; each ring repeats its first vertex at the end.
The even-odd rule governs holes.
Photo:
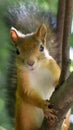
POLYGON ((65 4, 66 0, 58 1, 58 14, 57 14, 57 59, 58 64, 61 66, 62 62, 62 41, 63 41, 63 29, 64 29, 64 17, 65 17, 65 4))

